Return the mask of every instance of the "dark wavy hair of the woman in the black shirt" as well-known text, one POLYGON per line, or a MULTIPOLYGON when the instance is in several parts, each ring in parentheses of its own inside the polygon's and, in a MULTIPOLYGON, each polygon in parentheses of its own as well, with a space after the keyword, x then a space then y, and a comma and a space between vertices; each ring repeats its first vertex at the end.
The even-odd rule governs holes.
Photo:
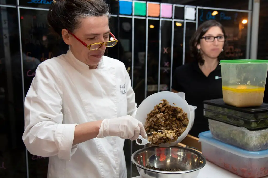
MULTIPOLYGON (((193 34, 191 40, 190 40, 190 52, 191 52, 191 57, 195 60, 198 61, 198 63, 200 65, 204 64, 204 60, 202 58, 201 53, 198 51, 198 49, 196 48, 196 46, 200 43, 200 39, 203 37, 203 35, 205 33, 207 33, 207 31, 214 26, 218 26, 221 30, 222 33, 224 34, 225 37, 225 41, 224 41, 224 47, 223 49, 227 46, 227 41, 226 41, 226 33, 224 30, 224 27, 221 25, 221 23, 219 23, 218 21, 215 20, 208 20, 204 23, 202 23, 198 29, 195 31, 195 33, 193 34)), ((220 58, 222 57, 222 53, 219 55, 218 60, 220 61, 220 58)))

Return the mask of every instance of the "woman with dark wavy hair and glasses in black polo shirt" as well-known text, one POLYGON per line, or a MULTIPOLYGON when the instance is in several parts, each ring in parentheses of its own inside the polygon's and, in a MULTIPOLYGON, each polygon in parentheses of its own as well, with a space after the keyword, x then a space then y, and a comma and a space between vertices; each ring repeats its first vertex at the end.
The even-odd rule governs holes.
POLYGON ((221 67, 219 56, 226 45, 224 27, 215 20, 202 23, 190 41, 194 62, 176 69, 172 92, 184 92, 190 105, 197 106, 195 122, 190 135, 198 137, 209 130, 208 120, 203 118, 203 101, 222 98, 221 67))

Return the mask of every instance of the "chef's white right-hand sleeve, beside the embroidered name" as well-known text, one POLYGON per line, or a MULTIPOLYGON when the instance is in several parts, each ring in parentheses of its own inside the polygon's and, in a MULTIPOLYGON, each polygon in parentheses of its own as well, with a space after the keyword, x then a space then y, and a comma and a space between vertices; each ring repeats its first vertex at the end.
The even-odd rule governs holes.
POLYGON ((135 118, 137 112, 137 104, 135 102, 135 93, 131 86, 131 80, 128 74, 128 71, 125 68, 124 63, 122 63, 123 70, 125 71, 125 80, 126 80, 126 99, 128 101, 128 110, 127 114, 135 118))

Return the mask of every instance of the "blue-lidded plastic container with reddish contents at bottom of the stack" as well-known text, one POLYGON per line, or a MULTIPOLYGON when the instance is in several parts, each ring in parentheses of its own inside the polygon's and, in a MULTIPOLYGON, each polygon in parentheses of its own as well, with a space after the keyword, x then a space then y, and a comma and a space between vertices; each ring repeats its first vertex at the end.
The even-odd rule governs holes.
POLYGON ((211 163, 245 178, 268 175, 268 150, 245 151, 214 139, 210 131, 200 133, 199 138, 202 154, 211 163))

